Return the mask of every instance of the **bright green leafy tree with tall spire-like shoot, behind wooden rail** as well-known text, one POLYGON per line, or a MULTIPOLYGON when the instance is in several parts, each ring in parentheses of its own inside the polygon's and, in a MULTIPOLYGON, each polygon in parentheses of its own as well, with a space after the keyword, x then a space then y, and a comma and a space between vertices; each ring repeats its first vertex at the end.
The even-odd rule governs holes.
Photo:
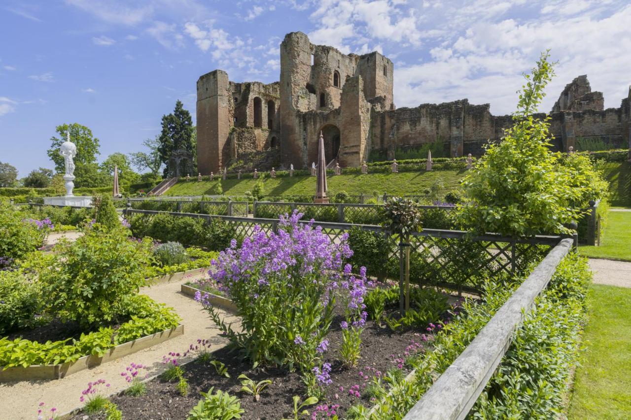
POLYGON ((550 151, 550 117, 534 117, 554 76, 549 54, 541 54, 532 75, 519 93, 513 125, 498 144, 488 146, 463 180, 470 201, 459 208, 459 220, 476 233, 507 236, 566 233, 564 225, 579 211, 571 206, 581 196, 572 188, 570 172, 558 153, 550 151))

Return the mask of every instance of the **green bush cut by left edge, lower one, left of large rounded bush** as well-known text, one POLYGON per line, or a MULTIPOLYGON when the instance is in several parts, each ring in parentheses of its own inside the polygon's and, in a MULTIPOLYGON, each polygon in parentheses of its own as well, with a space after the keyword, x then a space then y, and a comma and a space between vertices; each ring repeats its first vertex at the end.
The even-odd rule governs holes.
POLYGON ((42 288, 21 271, 0 270, 0 334, 40 322, 42 288))

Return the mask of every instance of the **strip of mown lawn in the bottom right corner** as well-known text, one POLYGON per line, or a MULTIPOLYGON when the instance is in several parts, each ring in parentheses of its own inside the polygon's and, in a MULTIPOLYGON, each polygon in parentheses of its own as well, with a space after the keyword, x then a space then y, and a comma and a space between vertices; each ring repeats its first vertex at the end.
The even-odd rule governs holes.
POLYGON ((631 419, 631 289, 593 284, 568 418, 631 419))

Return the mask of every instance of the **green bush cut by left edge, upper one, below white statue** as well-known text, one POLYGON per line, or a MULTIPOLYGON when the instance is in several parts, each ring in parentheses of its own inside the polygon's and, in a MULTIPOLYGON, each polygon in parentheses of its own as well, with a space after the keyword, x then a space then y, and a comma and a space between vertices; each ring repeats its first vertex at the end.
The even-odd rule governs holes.
POLYGON ((27 213, 0 201, 0 257, 21 259, 44 244, 47 228, 25 221, 27 213))

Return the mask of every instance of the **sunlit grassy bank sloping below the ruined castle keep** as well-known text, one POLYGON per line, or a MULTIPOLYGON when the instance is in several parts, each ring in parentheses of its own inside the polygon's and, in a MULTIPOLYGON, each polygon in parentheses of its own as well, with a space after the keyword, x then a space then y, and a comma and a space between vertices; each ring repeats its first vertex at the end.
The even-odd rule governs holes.
MULTIPOLYGON (((379 194, 423 194, 423 189, 429 188, 436 180, 442 180, 445 185, 444 192, 457 189, 460 179, 466 170, 440 170, 432 172, 399 172, 399 173, 367 173, 353 175, 336 175, 327 178, 329 195, 339 191, 348 194, 372 195, 373 191, 379 194)), ((180 180, 168 189, 165 195, 210 195, 215 194, 219 180, 201 181, 180 180)), ((254 179, 228 179, 221 180, 221 188, 226 195, 243 195, 245 191, 252 191, 256 180, 254 179)), ((266 195, 313 195, 315 194, 315 177, 283 177, 263 180, 266 195)))

